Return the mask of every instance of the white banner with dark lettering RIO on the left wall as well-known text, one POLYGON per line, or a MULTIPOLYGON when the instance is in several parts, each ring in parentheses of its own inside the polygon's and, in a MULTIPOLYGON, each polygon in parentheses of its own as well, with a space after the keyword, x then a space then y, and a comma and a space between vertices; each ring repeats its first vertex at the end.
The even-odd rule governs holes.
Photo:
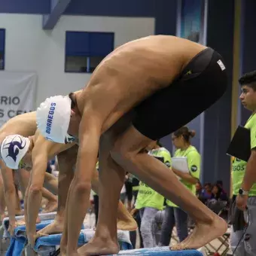
POLYGON ((0 72, 0 127, 17 114, 35 110, 37 75, 0 72))

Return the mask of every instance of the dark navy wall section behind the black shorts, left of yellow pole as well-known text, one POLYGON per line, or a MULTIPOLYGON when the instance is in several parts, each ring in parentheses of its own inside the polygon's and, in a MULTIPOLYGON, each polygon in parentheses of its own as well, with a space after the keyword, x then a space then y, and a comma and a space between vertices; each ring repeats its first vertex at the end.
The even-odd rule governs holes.
POLYGON ((207 45, 217 50, 224 58, 228 89, 222 99, 205 112, 203 181, 221 179, 224 181, 224 187, 229 190, 230 157, 227 156, 226 151, 231 136, 234 2, 209 0, 208 10, 207 45))

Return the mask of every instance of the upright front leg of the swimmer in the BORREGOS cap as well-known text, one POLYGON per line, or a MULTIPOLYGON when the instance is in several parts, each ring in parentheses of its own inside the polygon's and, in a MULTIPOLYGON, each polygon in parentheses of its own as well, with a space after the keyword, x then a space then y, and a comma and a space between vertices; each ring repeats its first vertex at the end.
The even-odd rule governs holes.
POLYGON ((110 157, 111 140, 102 136, 99 145, 99 219, 93 239, 78 249, 81 255, 116 254, 117 206, 125 172, 110 157))

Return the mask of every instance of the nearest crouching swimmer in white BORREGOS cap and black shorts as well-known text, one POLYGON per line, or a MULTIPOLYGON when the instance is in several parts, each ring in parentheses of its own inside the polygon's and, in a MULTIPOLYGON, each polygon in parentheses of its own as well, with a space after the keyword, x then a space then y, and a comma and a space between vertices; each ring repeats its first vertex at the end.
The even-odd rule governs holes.
POLYGON ((45 137, 63 143, 69 133, 80 141, 67 202, 69 256, 119 251, 116 209, 125 172, 163 194, 196 222, 193 233, 175 248, 200 248, 226 232, 222 218, 185 190, 168 167, 143 152, 150 142, 178 130, 217 102, 226 89, 226 67, 215 50, 184 38, 155 35, 114 50, 97 66, 84 90, 69 97, 50 97, 40 105, 37 123, 45 137), (191 108, 194 102, 197 105, 191 108), (56 129, 46 133, 51 105, 51 125, 56 129), (173 106, 180 108, 175 109, 175 118, 170 118, 173 106), (135 117, 126 120, 125 114, 132 112, 135 117), (102 166, 99 221, 96 235, 78 250, 98 151, 102 166), (87 200, 79 204, 84 198, 87 200), (74 208, 77 215, 72 214, 74 208))

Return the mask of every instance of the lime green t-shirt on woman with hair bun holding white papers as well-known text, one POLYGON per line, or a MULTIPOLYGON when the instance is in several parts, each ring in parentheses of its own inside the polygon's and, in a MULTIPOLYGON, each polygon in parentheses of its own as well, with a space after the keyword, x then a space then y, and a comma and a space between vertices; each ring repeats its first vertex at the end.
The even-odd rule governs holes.
MULTIPOLYGON (((185 151, 178 149, 175 151, 174 157, 187 157, 187 165, 190 171, 190 175, 194 178, 200 178, 200 166, 201 166, 201 156, 194 146, 189 146, 185 151)), ((196 185, 187 183, 181 179, 181 182, 189 189, 194 195, 196 194, 196 185)), ((169 200, 166 200, 167 206, 178 207, 169 200)))

